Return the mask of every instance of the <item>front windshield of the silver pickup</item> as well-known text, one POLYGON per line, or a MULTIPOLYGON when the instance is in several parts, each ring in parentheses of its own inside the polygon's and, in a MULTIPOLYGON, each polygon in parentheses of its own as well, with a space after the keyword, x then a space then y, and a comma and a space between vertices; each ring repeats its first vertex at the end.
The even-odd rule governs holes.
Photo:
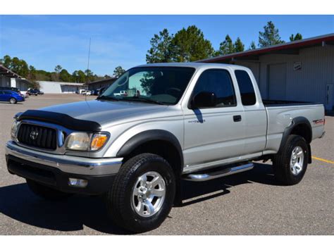
POLYGON ((99 99, 177 104, 193 73, 194 68, 187 67, 132 68, 113 82, 99 99))

